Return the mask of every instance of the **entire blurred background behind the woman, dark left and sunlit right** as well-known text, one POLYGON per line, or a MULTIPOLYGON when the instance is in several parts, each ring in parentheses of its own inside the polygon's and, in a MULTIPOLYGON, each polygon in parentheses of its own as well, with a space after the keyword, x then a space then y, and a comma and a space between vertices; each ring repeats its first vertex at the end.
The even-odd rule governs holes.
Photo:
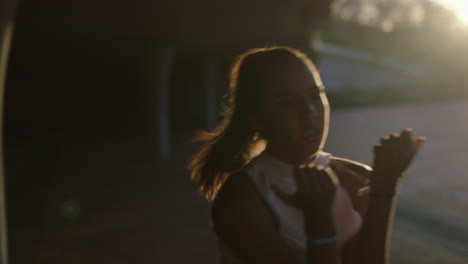
POLYGON ((370 165, 382 136, 427 137, 392 263, 468 263, 468 1, 0 3, 9 263, 218 263, 191 138, 232 59, 273 44, 318 64, 326 151, 370 165))

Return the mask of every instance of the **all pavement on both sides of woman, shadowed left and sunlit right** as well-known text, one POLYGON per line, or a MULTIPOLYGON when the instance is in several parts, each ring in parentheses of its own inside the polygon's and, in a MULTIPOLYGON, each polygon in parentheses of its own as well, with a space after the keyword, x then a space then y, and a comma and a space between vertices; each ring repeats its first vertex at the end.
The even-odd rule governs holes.
MULTIPOLYGON (((468 263, 465 113, 468 102, 332 111, 325 150, 336 156, 371 164, 383 135, 427 137, 401 182, 392 263, 468 263)), ((210 203, 186 168, 196 145, 174 141, 167 161, 134 142, 9 142, 11 263, 219 263, 210 203)))

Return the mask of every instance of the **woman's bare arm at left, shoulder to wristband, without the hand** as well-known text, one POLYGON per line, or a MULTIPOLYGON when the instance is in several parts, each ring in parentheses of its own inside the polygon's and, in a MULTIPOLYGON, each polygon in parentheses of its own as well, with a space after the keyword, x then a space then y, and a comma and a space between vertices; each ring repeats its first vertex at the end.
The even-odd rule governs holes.
MULTIPOLYGON (((298 256, 281 238, 274 216, 261 199, 247 175, 231 175, 213 204, 218 237, 246 264, 304 263, 303 256, 298 256)), ((339 263, 335 243, 309 243, 307 255, 306 263, 339 263)))

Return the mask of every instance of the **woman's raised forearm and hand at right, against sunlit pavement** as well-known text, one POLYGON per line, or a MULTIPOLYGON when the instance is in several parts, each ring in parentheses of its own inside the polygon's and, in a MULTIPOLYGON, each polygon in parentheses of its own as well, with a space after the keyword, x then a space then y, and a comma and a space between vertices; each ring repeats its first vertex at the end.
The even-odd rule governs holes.
POLYGON ((410 130, 382 138, 374 148, 374 171, 367 212, 361 231, 347 247, 345 263, 389 263, 395 191, 423 139, 413 140, 410 130))

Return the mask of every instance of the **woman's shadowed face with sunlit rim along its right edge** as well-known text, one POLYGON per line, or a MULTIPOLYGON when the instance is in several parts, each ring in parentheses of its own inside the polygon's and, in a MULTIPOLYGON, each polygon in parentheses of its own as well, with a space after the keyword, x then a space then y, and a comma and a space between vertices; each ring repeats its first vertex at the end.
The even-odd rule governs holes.
POLYGON ((325 144, 330 111, 321 81, 294 60, 265 74, 255 120, 272 154, 300 164, 325 144))

